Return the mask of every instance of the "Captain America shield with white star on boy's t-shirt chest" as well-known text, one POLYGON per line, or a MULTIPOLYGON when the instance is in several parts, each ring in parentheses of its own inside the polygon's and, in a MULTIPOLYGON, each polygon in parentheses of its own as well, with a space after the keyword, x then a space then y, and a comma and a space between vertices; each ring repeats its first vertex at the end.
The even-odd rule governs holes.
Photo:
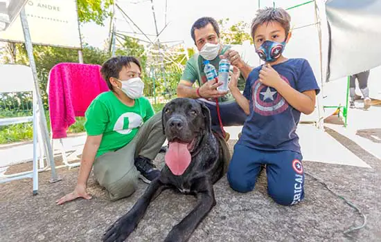
MULTIPOLYGON (((287 78, 282 79, 290 85, 287 78)), ((263 116, 283 113, 289 104, 274 88, 262 84, 259 80, 252 86, 253 108, 256 113, 263 116)))

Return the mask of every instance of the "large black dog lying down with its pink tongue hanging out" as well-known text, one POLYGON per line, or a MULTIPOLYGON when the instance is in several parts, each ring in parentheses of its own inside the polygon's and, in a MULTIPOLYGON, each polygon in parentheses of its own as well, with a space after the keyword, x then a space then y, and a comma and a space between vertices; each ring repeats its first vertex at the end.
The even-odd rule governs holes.
POLYGON ((194 194, 197 205, 172 228, 165 241, 188 241, 215 205, 213 184, 226 172, 230 153, 222 136, 211 131, 209 109, 196 100, 177 98, 164 106, 162 122, 169 144, 166 165, 130 212, 109 227, 103 241, 124 241, 138 225, 150 201, 167 188, 194 194))

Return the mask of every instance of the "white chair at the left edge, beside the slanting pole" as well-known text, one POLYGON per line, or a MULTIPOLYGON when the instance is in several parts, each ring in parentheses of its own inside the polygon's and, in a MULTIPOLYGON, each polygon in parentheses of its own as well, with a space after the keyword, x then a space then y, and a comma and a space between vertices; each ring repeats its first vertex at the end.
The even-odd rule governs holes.
MULTIPOLYGON (((33 178, 33 194, 38 191, 38 164, 37 164, 37 97, 33 84, 33 73, 29 66, 17 64, 0 64, 0 93, 18 93, 18 92, 32 92, 33 99, 33 113, 32 116, 17 117, 17 118, 0 118, 0 126, 19 124, 24 122, 33 122, 33 170, 20 172, 17 174, 1 175, 0 183, 7 183, 12 180, 19 180, 23 178, 33 178)), ((40 143, 41 144, 41 143, 40 143)), ((39 149, 40 167, 44 167, 43 151, 39 149)), ((44 170, 44 169, 42 169, 44 170)), ((42 171, 40 170, 40 171, 42 171)))

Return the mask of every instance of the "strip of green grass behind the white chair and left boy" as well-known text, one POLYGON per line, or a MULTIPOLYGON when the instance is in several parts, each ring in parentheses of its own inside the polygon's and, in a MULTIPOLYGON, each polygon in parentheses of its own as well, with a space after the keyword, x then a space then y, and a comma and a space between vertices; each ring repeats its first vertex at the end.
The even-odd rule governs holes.
MULTIPOLYGON (((163 109, 165 104, 152 104, 152 107, 157 113, 163 109)), ((9 110, 0 111, 0 118, 20 117, 24 115, 31 115, 31 113, 15 112, 9 110)), ((50 120, 49 113, 46 112, 46 119, 50 120)), ((48 124, 48 131, 50 132, 50 122, 48 124)), ((67 133, 82 133, 85 132, 85 118, 77 117, 76 122, 69 127, 67 133)), ((30 141, 33 138, 33 124, 31 122, 24 124, 12 124, 5 127, 0 127, 0 145, 10 144, 13 142, 30 141)))

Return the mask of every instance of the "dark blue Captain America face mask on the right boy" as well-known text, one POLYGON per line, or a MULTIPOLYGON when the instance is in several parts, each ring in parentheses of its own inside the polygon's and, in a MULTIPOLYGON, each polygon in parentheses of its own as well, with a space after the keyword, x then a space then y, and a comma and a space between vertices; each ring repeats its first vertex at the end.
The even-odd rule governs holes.
POLYGON ((285 41, 278 43, 276 41, 266 40, 260 45, 256 53, 264 62, 275 62, 281 57, 285 49, 285 41))

